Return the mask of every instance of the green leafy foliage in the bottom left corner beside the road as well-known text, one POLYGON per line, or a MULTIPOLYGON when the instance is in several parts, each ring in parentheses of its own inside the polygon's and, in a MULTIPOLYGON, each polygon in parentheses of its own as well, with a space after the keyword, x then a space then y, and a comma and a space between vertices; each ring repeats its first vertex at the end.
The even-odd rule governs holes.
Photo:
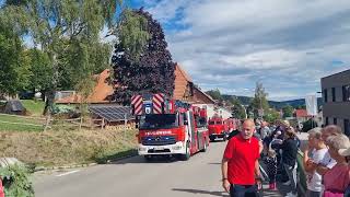
POLYGON ((34 197, 30 172, 24 165, 14 164, 0 167, 0 176, 4 187, 4 196, 34 197))

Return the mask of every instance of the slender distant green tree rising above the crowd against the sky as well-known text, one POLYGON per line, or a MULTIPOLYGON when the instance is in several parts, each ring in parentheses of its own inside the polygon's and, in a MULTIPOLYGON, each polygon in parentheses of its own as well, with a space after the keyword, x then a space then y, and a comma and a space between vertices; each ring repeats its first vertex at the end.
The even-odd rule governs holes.
POLYGON ((255 95, 250 102, 255 117, 258 117, 258 109, 262 109, 264 114, 269 111, 269 103, 267 101, 267 93, 262 86, 262 83, 257 82, 255 88, 255 95))

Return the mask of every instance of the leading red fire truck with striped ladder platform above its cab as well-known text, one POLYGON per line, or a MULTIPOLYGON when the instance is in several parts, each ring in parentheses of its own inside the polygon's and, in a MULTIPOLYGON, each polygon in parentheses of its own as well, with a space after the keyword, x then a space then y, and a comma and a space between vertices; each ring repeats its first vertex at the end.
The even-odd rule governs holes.
POLYGON ((145 160, 155 155, 188 160, 209 146, 207 113, 203 109, 164 94, 131 97, 131 108, 139 128, 138 152, 145 160))

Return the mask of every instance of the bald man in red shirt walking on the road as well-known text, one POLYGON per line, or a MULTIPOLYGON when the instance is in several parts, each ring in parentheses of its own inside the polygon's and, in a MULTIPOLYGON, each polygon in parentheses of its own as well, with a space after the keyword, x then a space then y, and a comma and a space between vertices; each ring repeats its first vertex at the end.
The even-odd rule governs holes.
POLYGON ((252 138, 255 131, 253 119, 246 119, 242 131, 226 146, 222 159, 222 186, 231 197, 256 197, 256 177, 259 172, 259 141, 252 138))

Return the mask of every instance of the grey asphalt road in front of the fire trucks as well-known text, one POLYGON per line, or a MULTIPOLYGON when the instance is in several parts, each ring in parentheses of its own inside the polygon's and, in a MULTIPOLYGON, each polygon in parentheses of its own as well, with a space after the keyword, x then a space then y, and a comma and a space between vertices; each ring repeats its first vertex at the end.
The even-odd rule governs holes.
MULTIPOLYGON (((221 187, 220 162, 225 142, 213 142, 189 161, 129 158, 116 163, 65 172, 36 173, 37 197, 206 197, 229 196, 221 187)), ((265 185, 266 187, 266 185, 265 185)), ((264 196, 280 196, 266 192, 264 196)))

